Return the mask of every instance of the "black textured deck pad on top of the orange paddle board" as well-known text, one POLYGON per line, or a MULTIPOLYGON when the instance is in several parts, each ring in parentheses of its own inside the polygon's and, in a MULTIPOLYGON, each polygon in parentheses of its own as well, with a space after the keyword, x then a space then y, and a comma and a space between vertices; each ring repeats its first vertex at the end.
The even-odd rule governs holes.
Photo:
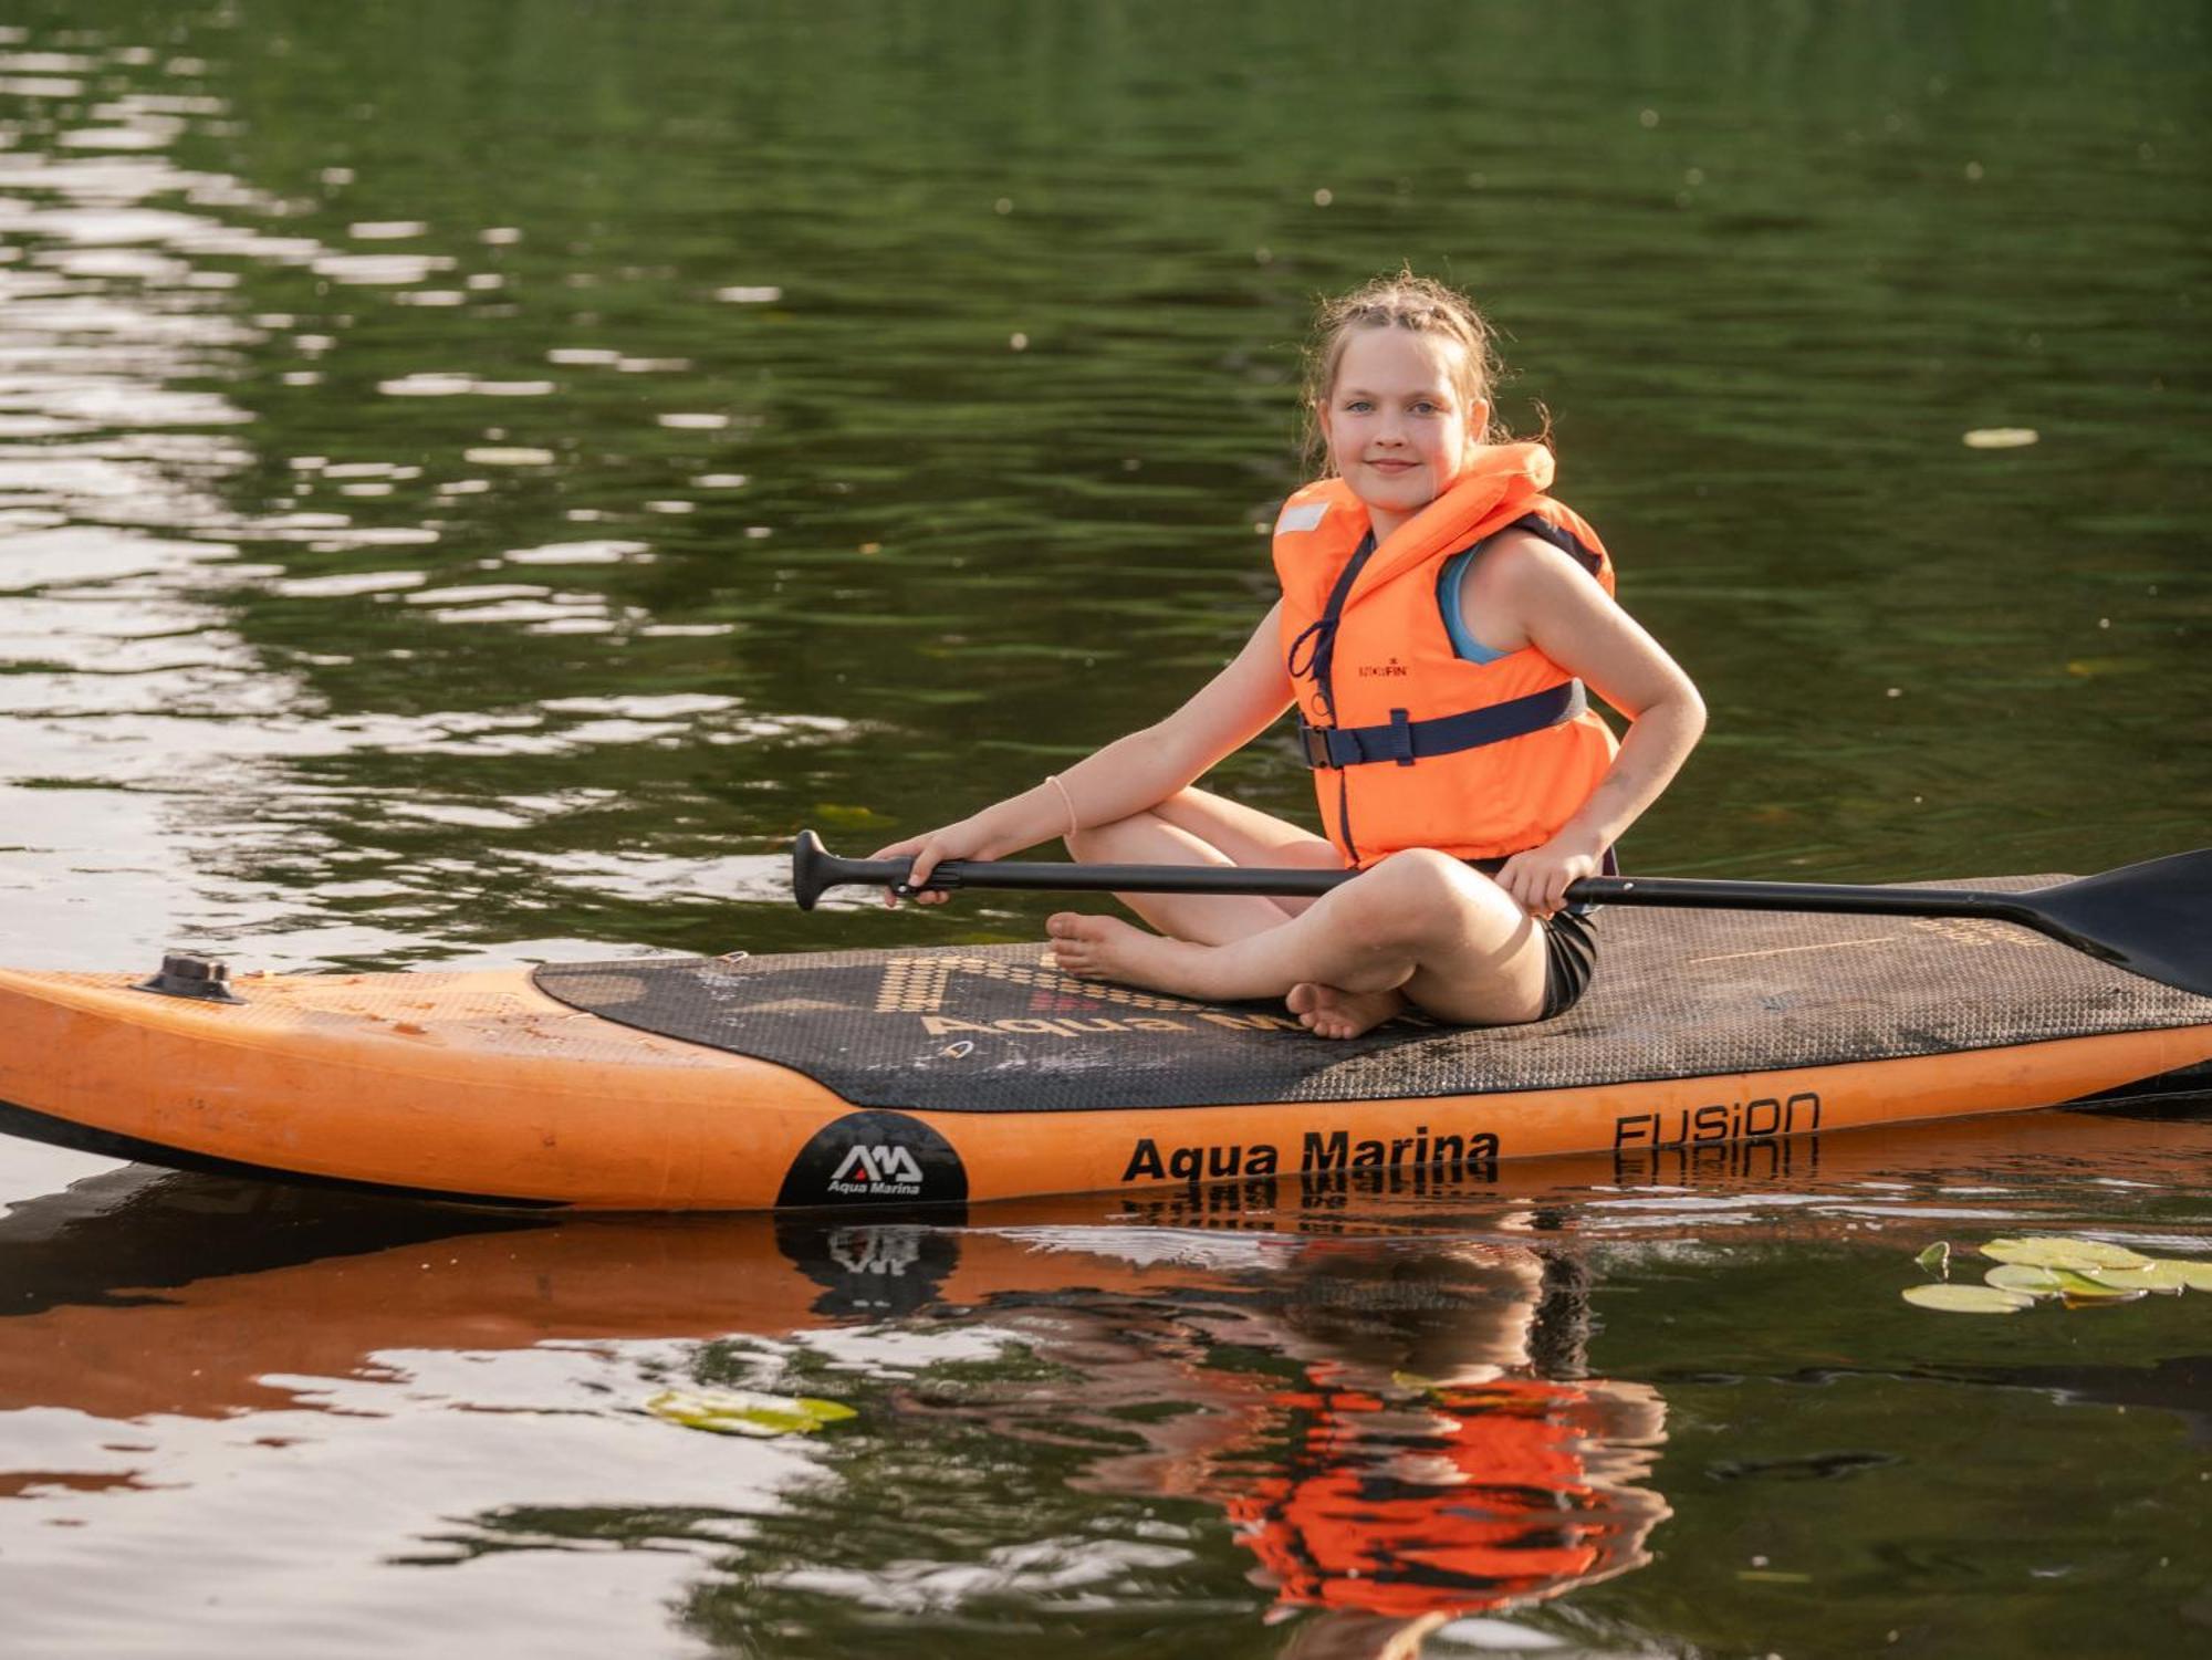
POLYGON ((2212 1023, 2212 998, 2006 923, 1624 905, 1595 923, 1597 981, 1557 1020, 1394 1020, 1349 1042, 1310 1036, 1279 1003, 1071 981, 1042 945, 555 963, 535 978, 571 1007, 792 1067, 856 1107, 969 1113, 1573 1089, 2212 1023))

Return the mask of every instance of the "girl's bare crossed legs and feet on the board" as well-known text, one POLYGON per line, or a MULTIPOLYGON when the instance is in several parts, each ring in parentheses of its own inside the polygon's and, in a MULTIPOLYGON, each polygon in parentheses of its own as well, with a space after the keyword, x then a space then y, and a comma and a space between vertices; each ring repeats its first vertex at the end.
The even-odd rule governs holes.
MULTIPOLYGON (((1082 830, 1079 861, 1340 870, 1336 848, 1206 790, 1082 830)), ((1126 894, 1161 930, 1060 912, 1060 967, 1194 998, 1281 996, 1323 1038, 1356 1038, 1407 1003, 1455 1023, 1513 1025, 1544 1007, 1544 936, 1489 876, 1400 852, 1323 894, 1126 894)))

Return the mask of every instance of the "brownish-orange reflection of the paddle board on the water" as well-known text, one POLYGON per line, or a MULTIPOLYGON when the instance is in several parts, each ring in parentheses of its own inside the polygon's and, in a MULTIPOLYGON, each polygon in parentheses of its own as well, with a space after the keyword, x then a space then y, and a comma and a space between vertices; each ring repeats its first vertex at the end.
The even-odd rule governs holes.
MULTIPOLYGON (((1515 1299, 1537 1297, 1542 1273, 1537 1257, 1511 1242, 1555 1246, 1559 1235, 1533 1233, 1528 1215, 1586 1202, 1599 1184, 1617 1184, 1615 1200, 1646 1184, 1668 1195, 1694 1184, 1708 1202, 1741 1200, 1728 1226, 1736 1244, 1776 1233, 1856 1239, 1874 1180, 1896 1193, 1922 1173, 1936 1184, 1973 1171, 2004 1184, 2008 1215, 2031 1224, 2020 1195, 2035 1191, 2044 1171, 2055 1193, 2070 1191, 2068 1177, 2084 1169, 2146 1191, 2183 1191, 2201 1184, 2208 1158, 2208 1120, 2046 1113, 1712 1147, 1619 1166, 1610 1158, 1506 1164, 1489 1175, 1431 1177, 1418 1193, 1409 1177, 1378 1173, 1343 1184, 1150 1189, 1126 1200, 1057 1195, 971 1208, 967 1226, 872 1213, 555 1224, 119 1171, 73 1193, 102 1200, 91 1213, 69 1211, 44 1226, 35 1206, 0 1217, 15 1299, 0 1343, 0 1412, 66 1405, 108 1419, 223 1417, 290 1401, 288 1386, 265 1379, 354 1377, 392 1350, 783 1339, 922 1310, 1004 1324, 1013 1306, 1064 1308, 1071 1288, 1168 1306, 1170 1293, 1259 1284, 1303 1299, 1321 1324, 1329 1310, 1354 1315, 1354 1328, 1396 1306, 1387 1286, 1365 1295, 1329 1279, 1334 1273, 1380 1273, 1394 1284, 1407 1275, 1473 1277, 1453 1319, 1413 1324, 1433 1326, 1433 1341, 1462 1361, 1513 1366, 1513 1343, 1493 1328, 1515 1299), (1854 1202, 1765 1213, 1776 1175, 1796 1193, 1854 1202), (1471 1215, 1482 1217, 1480 1239, 1471 1215), (1416 1253, 1347 1248, 1347 1226, 1369 1239, 1402 1235, 1416 1253), (1427 1266, 1409 1268, 1416 1257, 1427 1266), (1285 1279, 1294 1262, 1298 1273, 1285 1279), (1292 1284, 1303 1290, 1292 1295, 1292 1284)), ((1712 1215, 1710 1204, 1672 1217, 1644 1213, 1635 1237, 1697 1239, 1710 1233, 1712 1215)), ((1568 1237, 1601 1237, 1601 1224, 1586 1220, 1568 1237)), ((1175 1306, 1199 1301, 1179 1297, 1175 1306)), ((1245 1310, 1250 1297, 1214 1306, 1245 1310)), ((1130 1332, 1144 1324, 1124 1321, 1130 1332)), ((1343 1359, 1349 1350, 1336 1343, 1329 1352, 1343 1359)), ((1387 1359, 1383 1370, 1447 1370, 1427 1350, 1387 1359)), ((1097 1357, 1086 1366, 1095 1370, 1097 1357)))

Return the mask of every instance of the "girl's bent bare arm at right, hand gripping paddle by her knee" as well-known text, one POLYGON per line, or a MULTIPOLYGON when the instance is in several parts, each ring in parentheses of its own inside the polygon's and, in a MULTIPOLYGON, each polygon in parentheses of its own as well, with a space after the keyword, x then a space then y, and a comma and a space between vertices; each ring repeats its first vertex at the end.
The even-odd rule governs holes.
POLYGON ((1462 593, 1486 646, 1535 646, 1628 717, 1621 753, 1582 810, 1498 872, 1498 885, 1524 910, 1551 916, 1566 903, 1566 885, 1595 874, 1606 848, 1681 770, 1705 730, 1705 699, 1586 569, 1535 536, 1500 542, 1469 571, 1462 593))

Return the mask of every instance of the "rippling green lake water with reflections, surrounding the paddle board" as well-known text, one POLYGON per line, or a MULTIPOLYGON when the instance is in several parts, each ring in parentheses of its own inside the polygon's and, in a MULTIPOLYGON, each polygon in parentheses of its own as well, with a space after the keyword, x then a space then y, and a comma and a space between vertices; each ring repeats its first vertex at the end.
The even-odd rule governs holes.
MULTIPOLYGON (((1712 708, 1635 870, 2201 845, 2205 108, 2154 2, 24 0, 0 961, 1035 938, 803 916, 783 848, 1219 666, 1312 303, 1400 263, 1506 332, 1712 708)), ((1310 815, 1281 733, 1214 781, 1310 815)), ((2015 1228, 2212 1253, 2212 1122, 1845 1140, 852 1228, 4 1142, 9 1642, 2201 1647, 2212 1297, 1898 1290, 2015 1228), (708 1383, 856 1419, 644 1408, 708 1383)))

